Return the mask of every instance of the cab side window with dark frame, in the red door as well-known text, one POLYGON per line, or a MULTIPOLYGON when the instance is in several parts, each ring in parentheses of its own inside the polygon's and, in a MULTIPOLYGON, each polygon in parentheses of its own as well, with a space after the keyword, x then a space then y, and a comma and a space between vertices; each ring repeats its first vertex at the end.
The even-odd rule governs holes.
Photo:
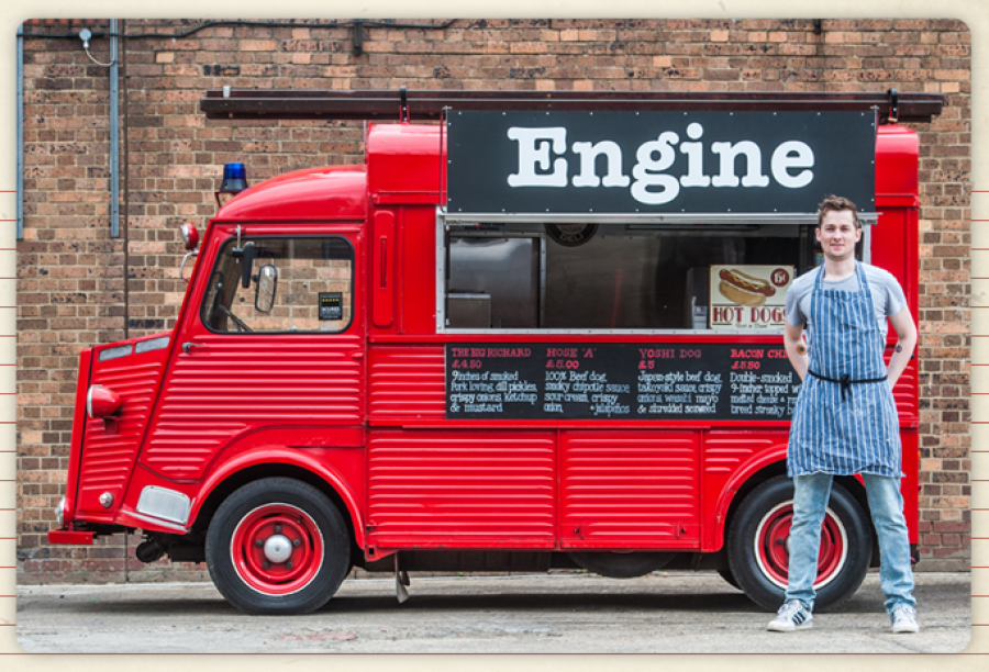
POLYGON ((203 296, 211 331, 340 333, 353 316, 354 248, 326 237, 227 240, 203 296))

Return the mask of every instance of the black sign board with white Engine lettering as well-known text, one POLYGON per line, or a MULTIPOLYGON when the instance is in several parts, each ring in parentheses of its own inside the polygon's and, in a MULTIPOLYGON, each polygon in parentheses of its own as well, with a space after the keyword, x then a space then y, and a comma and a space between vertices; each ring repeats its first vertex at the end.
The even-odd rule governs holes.
POLYGON ((869 112, 451 112, 449 213, 875 212, 869 112))

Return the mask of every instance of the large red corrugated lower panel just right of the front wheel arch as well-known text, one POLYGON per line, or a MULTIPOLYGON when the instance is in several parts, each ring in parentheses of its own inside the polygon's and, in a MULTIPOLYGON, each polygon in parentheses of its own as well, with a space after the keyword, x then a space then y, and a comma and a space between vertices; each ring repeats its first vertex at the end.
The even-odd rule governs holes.
POLYGON ((369 542, 379 548, 552 548, 552 432, 373 432, 369 542))

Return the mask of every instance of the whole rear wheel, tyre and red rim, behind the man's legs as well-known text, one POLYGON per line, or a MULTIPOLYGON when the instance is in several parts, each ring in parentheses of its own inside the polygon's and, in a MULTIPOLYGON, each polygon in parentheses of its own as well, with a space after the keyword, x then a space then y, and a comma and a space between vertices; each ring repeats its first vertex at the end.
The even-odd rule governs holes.
MULTIPOLYGON (((793 482, 776 477, 742 502, 727 537, 731 574, 738 587, 760 607, 775 612, 782 604, 789 565, 793 482)), ((835 607, 865 579, 873 557, 867 514, 838 483, 821 526, 814 611, 835 607)))

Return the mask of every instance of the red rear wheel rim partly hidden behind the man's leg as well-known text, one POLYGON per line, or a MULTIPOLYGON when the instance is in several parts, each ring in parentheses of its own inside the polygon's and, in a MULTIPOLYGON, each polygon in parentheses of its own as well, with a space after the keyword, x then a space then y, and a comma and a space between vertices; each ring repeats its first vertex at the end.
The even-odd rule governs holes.
MULTIPOLYGON (((793 524, 793 502, 782 502, 759 520, 755 535, 756 562, 763 574, 781 589, 787 587, 787 568, 790 564, 790 526, 793 524)), ((845 565, 848 555, 848 537, 845 526, 829 508, 821 525, 821 550, 818 555, 818 580, 814 589, 834 581, 845 565)))

